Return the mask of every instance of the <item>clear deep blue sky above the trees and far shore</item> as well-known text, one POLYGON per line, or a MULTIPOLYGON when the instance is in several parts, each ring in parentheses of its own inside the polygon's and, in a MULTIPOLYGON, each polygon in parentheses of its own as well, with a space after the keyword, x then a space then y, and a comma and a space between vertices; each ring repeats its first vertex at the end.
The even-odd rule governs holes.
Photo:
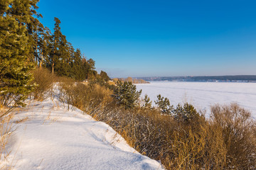
POLYGON ((256 1, 41 0, 110 77, 256 74, 256 1))

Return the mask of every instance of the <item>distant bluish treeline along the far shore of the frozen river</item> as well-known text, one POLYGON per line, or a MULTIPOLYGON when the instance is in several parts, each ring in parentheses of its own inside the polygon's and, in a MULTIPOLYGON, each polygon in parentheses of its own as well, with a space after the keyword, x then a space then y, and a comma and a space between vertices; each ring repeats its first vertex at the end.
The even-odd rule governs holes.
POLYGON ((256 75, 205 76, 205 77, 139 77, 145 81, 250 81, 256 82, 256 75))

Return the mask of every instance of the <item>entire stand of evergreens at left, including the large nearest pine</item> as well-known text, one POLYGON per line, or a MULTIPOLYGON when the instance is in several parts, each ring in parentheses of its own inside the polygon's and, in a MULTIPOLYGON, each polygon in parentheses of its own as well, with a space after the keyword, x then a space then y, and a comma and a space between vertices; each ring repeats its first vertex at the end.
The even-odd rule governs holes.
POLYGON ((58 76, 85 79, 110 79, 97 74, 95 61, 85 59, 61 32, 54 18, 53 33, 38 20, 39 0, 0 1, 0 104, 22 105, 33 90, 31 70, 45 67, 58 76))

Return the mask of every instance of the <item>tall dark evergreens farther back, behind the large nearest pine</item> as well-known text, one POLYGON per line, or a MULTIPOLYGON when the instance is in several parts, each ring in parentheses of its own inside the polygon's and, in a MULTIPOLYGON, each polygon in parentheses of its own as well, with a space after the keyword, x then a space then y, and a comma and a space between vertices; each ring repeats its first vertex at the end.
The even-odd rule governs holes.
POLYGON ((74 49, 65 35, 61 33, 60 20, 54 18, 54 32, 48 28, 37 31, 35 47, 33 47, 34 60, 39 67, 46 67, 59 76, 72 77, 85 80, 97 76, 95 61, 82 57, 79 49, 74 49))

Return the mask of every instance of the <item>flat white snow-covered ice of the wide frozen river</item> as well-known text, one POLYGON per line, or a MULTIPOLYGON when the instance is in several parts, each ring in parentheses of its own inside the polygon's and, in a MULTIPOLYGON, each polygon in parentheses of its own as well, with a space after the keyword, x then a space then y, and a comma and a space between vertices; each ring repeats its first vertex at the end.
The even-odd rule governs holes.
POLYGON ((216 103, 238 103, 256 118, 256 83, 151 81, 137 84, 137 89, 142 89, 142 97, 147 94, 152 101, 161 94, 174 106, 191 103, 198 110, 206 110, 206 117, 210 115, 210 106, 216 103))

